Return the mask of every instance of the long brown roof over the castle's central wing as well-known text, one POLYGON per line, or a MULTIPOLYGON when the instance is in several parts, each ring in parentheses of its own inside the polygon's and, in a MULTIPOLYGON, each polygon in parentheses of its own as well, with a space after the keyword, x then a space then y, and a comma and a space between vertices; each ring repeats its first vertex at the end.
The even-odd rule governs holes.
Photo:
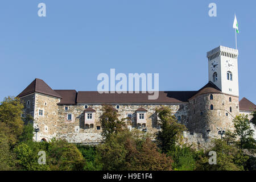
POLYGON ((118 103, 118 102, 187 102, 197 91, 159 91, 156 100, 148 100, 148 93, 98 93, 81 91, 77 93, 77 103, 118 103))

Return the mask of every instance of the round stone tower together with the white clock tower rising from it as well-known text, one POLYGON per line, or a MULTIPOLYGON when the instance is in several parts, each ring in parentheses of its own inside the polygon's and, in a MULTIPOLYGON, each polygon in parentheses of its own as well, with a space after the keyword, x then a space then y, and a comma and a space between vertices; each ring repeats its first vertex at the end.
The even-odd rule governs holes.
POLYGON ((207 57, 209 82, 189 98, 188 129, 211 139, 220 137, 220 129, 233 131, 239 114, 238 51, 219 46, 207 57))

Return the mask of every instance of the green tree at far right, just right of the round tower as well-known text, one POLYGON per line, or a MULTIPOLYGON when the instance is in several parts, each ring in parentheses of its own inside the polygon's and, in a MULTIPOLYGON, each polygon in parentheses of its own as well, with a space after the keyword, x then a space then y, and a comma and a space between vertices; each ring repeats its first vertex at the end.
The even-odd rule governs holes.
POLYGON ((234 134, 239 139, 238 146, 240 149, 243 148, 254 148, 255 140, 253 139, 254 131, 250 127, 248 115, 240 114, 233 119, 234 123, 234 134))

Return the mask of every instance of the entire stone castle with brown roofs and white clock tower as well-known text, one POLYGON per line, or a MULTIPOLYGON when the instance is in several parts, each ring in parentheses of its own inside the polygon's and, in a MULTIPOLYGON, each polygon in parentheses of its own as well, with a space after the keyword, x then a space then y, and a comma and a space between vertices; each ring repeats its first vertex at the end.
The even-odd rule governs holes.
MULTIPOLYGON (((238 50, 224 46, 207 53, 209 82, 197 91, 159 92, 157 100, 148 100, 147 93, 98 93, 76 90, 53 90, 36 78, 18 97, 24 103, 22 117, 31 114, 39 131, 34 140, 53 137, 71 143, 99 143, 102 104, 112 105, 122 118, 131 119, 130 129, 160 129, 156 109, 168 106, 177 121, 189 132, 194 142, 220 137, 220 130, 233 130, 233 118, 250 114, 255 105, 243 98, 239 101, 238 50)), ((144 130, 145 131, 145 130, 144 130)))

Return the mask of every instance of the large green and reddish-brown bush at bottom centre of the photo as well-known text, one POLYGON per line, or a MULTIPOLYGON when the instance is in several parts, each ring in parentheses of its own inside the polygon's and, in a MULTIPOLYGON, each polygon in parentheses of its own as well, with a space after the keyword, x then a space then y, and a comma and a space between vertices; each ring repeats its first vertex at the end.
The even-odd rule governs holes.
POLYGON ((110 135, 97 150, 104 170, 171 170, 170 157, 161 154, 149 138, 135 138, 130 131, 110 135))

